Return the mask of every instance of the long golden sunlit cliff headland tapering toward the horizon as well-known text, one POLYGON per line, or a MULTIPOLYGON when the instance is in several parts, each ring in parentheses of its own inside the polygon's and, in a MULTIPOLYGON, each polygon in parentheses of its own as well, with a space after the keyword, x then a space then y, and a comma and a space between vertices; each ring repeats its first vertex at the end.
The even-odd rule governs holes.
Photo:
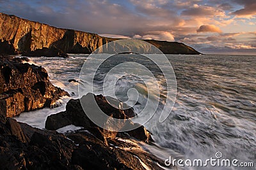
MULTIPOLYGON (((114 40, 116 39, 88 32, 60 29, 0 13, 0 53, 20 54, 40 49, 53 49, 54 52, 59 53, 92 53, 100 46, 114 40)), ((183 43, 145 41, 157 46, 163 53, 199 54, 183 43)), ((140 52, 148 52, 148 50, 145 46, 140 52)))

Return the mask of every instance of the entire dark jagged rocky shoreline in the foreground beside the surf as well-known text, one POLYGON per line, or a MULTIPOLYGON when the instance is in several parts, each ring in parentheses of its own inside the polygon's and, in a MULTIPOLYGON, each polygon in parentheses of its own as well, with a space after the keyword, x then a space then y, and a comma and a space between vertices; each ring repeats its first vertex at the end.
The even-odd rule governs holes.
MULTIPOLYGON (((140 145, 152 143, 150 132, 145 127, 129 132, 102 129, 86 116, 79 99, 70 99, 66 111, 47 117, 43 130, 8 118, 25 110, 51 106, 60 96, 68 95, 51 84, 44 68, 22 63, 24 60, 27 59, 1 57, 0 60, 0 80, 3 82, 0 169, 162 169, 163 160, 140 145), (25 93, 28 91, 30 93, 25 93), (26 102, 29 99, 31 102, 26 102), (12 104, 4 105, 3 101, 12 104), (56 132, 67 125, 81 129, 64 134, 56 132)), ((113 108, 104 96, 94 97, 100 109, 110 117, 130 118, 135 115, 132 109, 113 108)), ((134 123, 130 121, 129 124, 134 123)))

